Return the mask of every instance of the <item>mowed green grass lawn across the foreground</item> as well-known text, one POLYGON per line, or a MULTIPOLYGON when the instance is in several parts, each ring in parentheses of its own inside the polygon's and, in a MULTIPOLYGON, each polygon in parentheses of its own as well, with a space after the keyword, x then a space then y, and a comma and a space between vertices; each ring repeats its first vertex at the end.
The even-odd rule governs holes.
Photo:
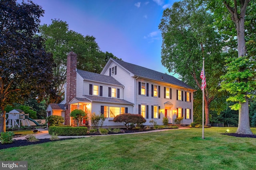
POLYGON ((206 128, 205 139, 191 128, 54 141, 0 150, 0 160, 27 160, 29 170, 256 169, 256 139, 221 135, 226 129, 206 128))

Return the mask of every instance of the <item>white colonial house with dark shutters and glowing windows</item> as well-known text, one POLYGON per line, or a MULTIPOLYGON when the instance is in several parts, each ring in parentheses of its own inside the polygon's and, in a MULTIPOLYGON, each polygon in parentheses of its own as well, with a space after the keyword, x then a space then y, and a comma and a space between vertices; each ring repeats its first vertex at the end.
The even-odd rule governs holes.
POLYGON ((82 109, 88 113, 84 125, 91 125, 90 115, 104 114, 103 126, 122 126, 113 121, 122 113, 141 114, 144 125, 154 120, 163 124, 163 117, 174 123, 184 117, 182 124, 193 122, 192 87, 177 78, 142 66, 110 58, 100 74, 76 68, 76 54, 67 57, 67 78, 64 100, 50 104, 47 116, 61 115, 66 125, 75 125, 70 112, 82 109), (58 110, 55 110, 57 108, 58 110))

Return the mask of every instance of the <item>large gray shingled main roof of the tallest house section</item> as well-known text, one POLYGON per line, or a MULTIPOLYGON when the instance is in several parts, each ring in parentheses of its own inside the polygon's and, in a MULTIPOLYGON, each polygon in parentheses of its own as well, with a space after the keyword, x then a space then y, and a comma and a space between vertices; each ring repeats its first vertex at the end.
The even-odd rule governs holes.
MULTIPOLYGON (((164 74, 162 72, 151 70, 149 68, 145 68, 145 67, 138 66, 138 65, 135 65, 135 64, 126 63, 124 61, 120 61, 120 60, 117 60, 117 59, 113 59, 113 60, 116 61, 116 63, 123 66, 124 68, 126 68, 126 70, 128 70, 132 74, 134 74, 134 76, 149 78, 151 80, 157 80, 157 81, 160 81, 160 82, 167 82, 167 83, 170 83, 170 84, 174 84, 174 85, 177 85, 177 86, 181 86, 181 87, 184 87, 184 88, 190 88, 190 89, 194 90, 192 87, 188 86, 188 84, 178 80, 174 76, 170 76, 168 74, 164 74)), ((186 69, 186 68, 184 68, 184 69, 186 69)))

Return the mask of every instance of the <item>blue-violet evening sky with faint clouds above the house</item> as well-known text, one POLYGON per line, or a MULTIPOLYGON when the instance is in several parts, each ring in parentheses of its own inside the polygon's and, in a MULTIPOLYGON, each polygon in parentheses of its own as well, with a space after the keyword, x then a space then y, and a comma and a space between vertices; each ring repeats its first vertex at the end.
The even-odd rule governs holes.
MULTIPOLYGON (((32 0, 45 10, 41 24, 66 21, 69 29, 96 38, 101 51, 159 72, 162 37, 158 25, 177 0, 32 0)), ((168 73, 172 75, 171 73, 168 73)))

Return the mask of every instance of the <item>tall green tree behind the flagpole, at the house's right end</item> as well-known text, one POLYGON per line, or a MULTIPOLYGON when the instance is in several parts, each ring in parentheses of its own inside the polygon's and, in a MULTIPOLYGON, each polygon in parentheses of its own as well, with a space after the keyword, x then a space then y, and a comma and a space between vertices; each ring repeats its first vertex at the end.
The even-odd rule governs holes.
POLYGON ((212 22, 212 15, 204 4, 182 0, 164 10, 159 25, 163 39, 162 64, 169 72, 178 73, 190 86, 201 89, 199 77, 202 58, 205 58, 205 125, 210 125, 210 103, 221 95, 218 92, 219 77, 223 74, 224 66, 220 56, 220 35, 212 27, 212 22))

